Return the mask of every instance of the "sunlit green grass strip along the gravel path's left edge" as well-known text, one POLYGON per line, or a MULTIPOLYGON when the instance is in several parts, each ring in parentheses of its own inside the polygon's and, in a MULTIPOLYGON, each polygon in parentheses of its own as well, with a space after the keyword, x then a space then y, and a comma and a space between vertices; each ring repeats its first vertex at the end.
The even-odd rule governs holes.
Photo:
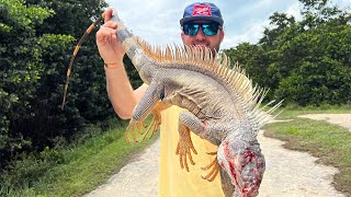
POLYGON ((39 177, 29 179, 22 188, 0 183, 0 194, 81 196, 89 193, 117 173, 128 162, 131 155, 144 150, 158 137, 151 140, 147 138, 138 143, 127 143, 124 132, 125 127, 120 127, 89 139, 81 146, 58 150, 57 155, 63 157, 65 162, 54 164, 39 177))

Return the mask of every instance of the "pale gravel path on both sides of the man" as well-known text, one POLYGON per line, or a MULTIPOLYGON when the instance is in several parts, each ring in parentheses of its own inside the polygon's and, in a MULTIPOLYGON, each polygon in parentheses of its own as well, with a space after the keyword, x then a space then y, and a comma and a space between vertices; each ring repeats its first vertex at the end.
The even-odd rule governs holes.
MULTIPOLYGON (((327 120, 349 128, 351 114, 304 115, 302 117, 327 120)), ((267 169, 260 187, 260 197, 336 197, 343 196, 331 185, 336 167, 317 164, 317 158, 306 152, 284 149, 283 141, 267 138, 259 132, 258 140, 265 158, 267 169)), ((86 197, 156 197, 158 194, 159 139, 136 155, 106 184, 86 197)))

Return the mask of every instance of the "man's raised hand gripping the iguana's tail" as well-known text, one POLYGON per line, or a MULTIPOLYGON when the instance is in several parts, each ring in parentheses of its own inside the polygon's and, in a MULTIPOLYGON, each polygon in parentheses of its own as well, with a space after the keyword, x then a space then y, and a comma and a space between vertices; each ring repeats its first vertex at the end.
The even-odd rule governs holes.
POLYGON ((105 65, 123 65, 125 49, 116 36, 117 23, 111 21, 112 9, 105 12, 104 25, 97 33, 97 45, 105 65))

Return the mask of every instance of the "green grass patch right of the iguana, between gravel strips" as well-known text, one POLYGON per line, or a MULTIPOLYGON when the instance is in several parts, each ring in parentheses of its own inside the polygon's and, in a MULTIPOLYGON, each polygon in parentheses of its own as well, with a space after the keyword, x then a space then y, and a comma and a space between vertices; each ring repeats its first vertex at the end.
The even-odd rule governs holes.
POLYGON ((351 195, 351 132, 326 121, 298 118, 302 114, 351 113, 350 107, 335 108, 284 108, 279 118, 291 121, 265 126, 264 136, 286 141, 287 149, 306 151, 319 158, 318 162, 333 165, 340 173, 333 177, 336 189, 351 195))

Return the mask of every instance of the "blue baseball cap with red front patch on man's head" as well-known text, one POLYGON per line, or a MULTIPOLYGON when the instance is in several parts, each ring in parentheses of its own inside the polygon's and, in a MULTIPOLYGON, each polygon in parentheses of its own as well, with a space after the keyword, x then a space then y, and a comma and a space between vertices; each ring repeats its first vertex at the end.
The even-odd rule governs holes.
POLYGON ((194 2, 189 4, 184 9, 183 19, 181 19, 180 25, 183 26, 184 23, 196 20, 206 20, 217 22, 223 26, 223 19, 220 10, 214 3, 211 2, 194 2))

